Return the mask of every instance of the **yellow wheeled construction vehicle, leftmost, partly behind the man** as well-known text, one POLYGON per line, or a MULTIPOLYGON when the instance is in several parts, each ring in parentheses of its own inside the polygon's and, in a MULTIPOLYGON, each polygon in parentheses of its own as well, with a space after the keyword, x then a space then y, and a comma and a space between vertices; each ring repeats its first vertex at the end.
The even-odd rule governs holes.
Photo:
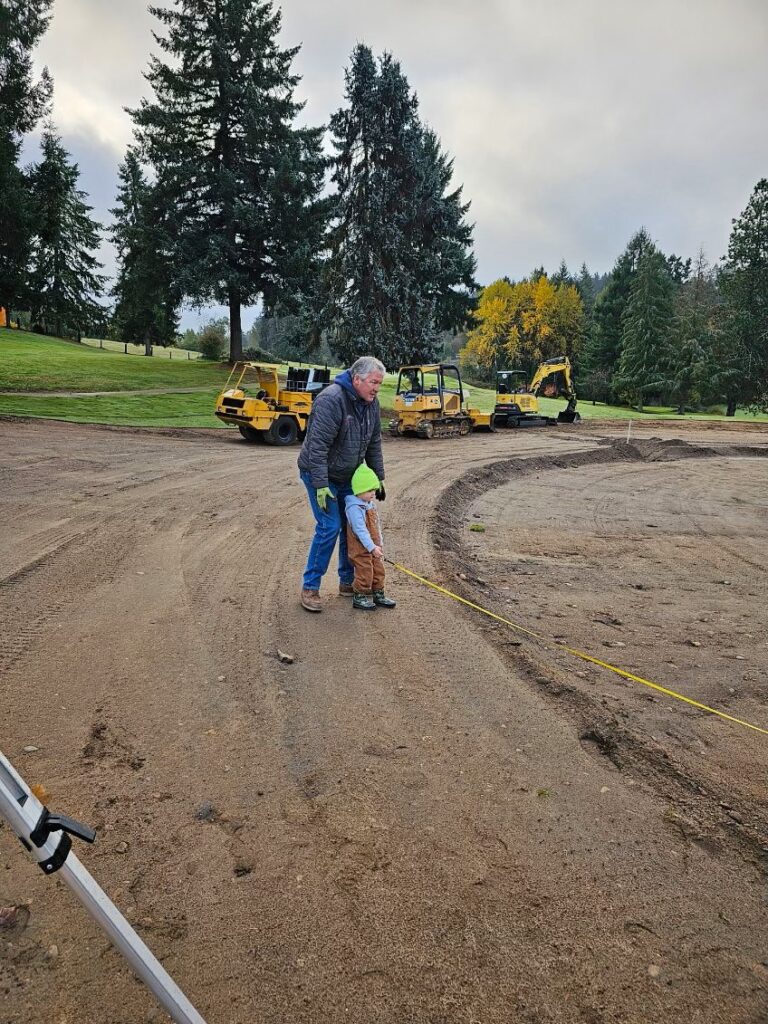
POLYGON ((330 371, 288 368, 281 386, 273 362, 236 362, 216 398, 216 416, 238 427, 247 441, 293 444, 302 438, 312 399, 330 383, 330 371))

